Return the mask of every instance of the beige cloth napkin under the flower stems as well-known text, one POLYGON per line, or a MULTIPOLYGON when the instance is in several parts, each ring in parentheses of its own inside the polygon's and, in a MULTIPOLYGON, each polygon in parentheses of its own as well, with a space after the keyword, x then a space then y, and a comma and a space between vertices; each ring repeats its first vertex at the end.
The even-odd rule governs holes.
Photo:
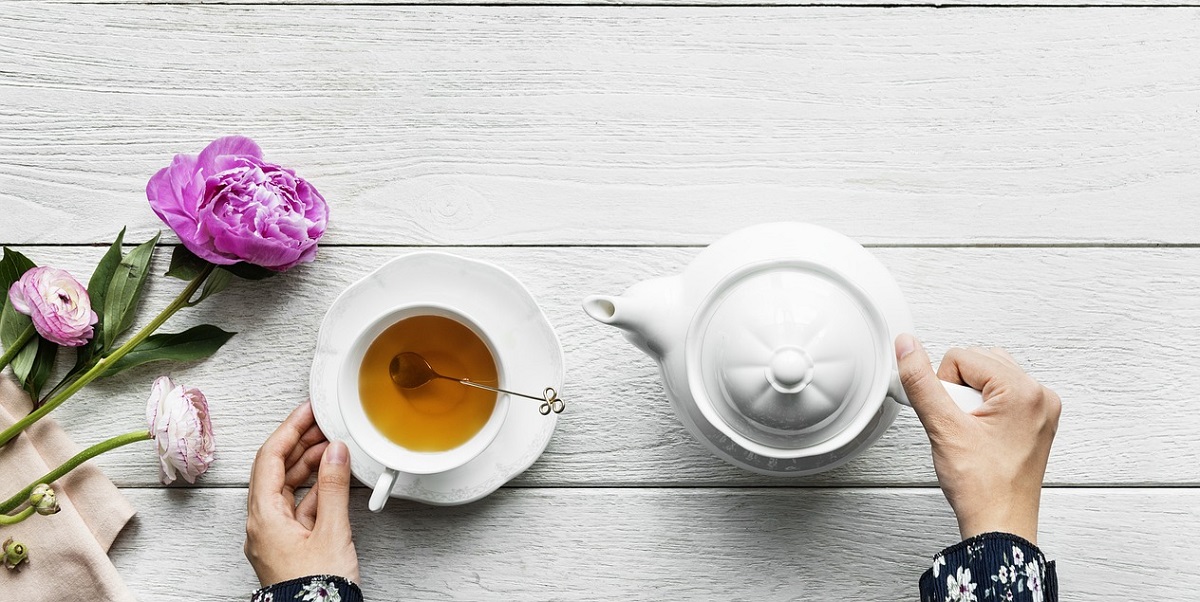
MULTIPOLYGON (((31 404, 16 383, 0 378, 0 427, 29 413, 31 404)), ((43 417, 0 449, 0 501, 49 472, 80 449, 50 416, 43 417)), ((0 566, 0 597, 20 602, 62 600, 134 601, 108 547, 133 517, 133 507, 91 462, 54 484, 58 514, 34 514, 19 524, 0 526, 0 543, 8 537, 29 546, 29 562, 18 571, 0 566)))

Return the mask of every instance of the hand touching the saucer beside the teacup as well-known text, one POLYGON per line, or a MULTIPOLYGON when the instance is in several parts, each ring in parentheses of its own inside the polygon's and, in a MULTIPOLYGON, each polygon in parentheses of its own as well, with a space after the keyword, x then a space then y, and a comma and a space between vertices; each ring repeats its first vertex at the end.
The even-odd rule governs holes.
POLYGON ((350 540, 350 454, 328 443, 305 402, 266 439, 250 472, 246 558, 264 586, 310 574, 359 580, 350 540), (319 468, 318 468, 319 466, 319 468), (295 502, 295 489, 317 484, 295 502))

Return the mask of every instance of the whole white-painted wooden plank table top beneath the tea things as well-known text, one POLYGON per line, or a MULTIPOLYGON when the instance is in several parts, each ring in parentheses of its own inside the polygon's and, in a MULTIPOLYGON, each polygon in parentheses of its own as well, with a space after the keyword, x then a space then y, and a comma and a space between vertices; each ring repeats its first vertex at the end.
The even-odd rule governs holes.
MULTIPOLYGON (((956 530, 911 413, 836 471, 750 475, 578 308, 774 219, 871 246, 934 353, 1003 345, 1061 393, 1042 544, 1064 600, 1195 600, 1200 5, 476 2, 0 5, 0 242, 89 273, 122 225, 161 228, 146 179, 226 133, 332 206, 317 263, 170 323, 239 331, 173 368, 211 401, 212 470, 100 462, 138 510, 112 556, 142 600, 247 597, 250 463, 322 313, 425 247, 527 283, 574 403, 484 501, 371 514, 358 489, 370 600, 914 600, 956 530)), ((149 311, 178 290, 151 287, 149 311)), ((54 416, 80 444, 134 428, 160 369, 54 416)))

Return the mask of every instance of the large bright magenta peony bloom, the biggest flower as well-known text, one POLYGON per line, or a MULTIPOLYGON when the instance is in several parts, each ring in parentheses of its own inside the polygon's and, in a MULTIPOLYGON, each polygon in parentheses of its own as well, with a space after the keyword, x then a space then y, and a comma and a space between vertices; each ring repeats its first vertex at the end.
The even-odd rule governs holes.
POLYGON ((312 261, 329 221, 317 188, 263 161, 241 136, 217 138, 199 156, 175 155, 146 183, 146 198, 188 251, 218 265, 283 271, 312 261))

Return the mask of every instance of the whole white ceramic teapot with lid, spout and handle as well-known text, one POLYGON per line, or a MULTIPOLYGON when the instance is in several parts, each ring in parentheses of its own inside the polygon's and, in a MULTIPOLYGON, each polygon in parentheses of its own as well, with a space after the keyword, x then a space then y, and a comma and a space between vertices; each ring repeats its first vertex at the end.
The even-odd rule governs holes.
MULTIPOLYGON (((625 331, 662 369, 676 415, 733 465, 809 475, 866 450, 908 405, 895 337, 912 318, 892 275, 833 230, 738 230, 678 276, 590 296, 583 309, 625 331)), ((978 391, 943 383, 970 411, 978 391)))

